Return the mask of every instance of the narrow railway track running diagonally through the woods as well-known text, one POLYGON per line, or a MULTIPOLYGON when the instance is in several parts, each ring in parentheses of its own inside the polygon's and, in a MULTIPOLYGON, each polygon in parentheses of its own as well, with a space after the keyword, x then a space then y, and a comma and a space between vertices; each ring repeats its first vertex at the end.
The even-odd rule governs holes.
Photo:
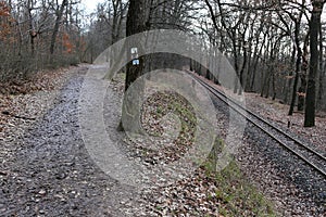
POLYGON ((193 75, 192 77, 203 87, 205 87, 212 94, 217 97, 224 103, 228 104, 228 106, 231 110, 246 117, 248 122, 261 129, 268 137, 273 138, 273 140, 275 140, 283 148, 288 150, 288 152, 294 154, 297 157, 303 161, 306 165, 309 165, 313 170, 317 171, 324 178, 326 177, 325 155, 312 149, 304 142, 291 136, 290 133, 281 130, 278 126, 275 126, 268 120, 246 108, 243 105, 239 104, 235 100, 226 97, 225 93, 223 93, 221 90, 216 89, 212 85, 205 82, 203 79, 198 78, 193 75))

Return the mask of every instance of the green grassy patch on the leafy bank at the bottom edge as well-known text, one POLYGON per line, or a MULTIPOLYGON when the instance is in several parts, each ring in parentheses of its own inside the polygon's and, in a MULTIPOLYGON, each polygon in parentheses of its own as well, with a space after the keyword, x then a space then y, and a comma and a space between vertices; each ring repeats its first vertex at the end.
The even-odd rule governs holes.
MULTIPOLYGON (((221 149, 222 142, 217 142, 221 149)), ((216 145, 216 144, 215 144, 216 145)), ((217 187, 215 196, 220 202, 220 214, 223 216, 277 216, 272 202, 251 184, 242 175, 236 161, 216 171, 215 158, 209 157, 203 165, 206 176, 217 187)))

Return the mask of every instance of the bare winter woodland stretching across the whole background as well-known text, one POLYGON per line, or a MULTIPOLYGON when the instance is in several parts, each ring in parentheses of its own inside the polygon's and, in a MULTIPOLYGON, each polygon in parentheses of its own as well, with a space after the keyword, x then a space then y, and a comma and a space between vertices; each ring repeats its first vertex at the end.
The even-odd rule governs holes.
MULTIPOLYGON (((314 126, 315 111, 326 111, 324 0, 103 0, 92 14, 76 0, 0 2, 2 80, 53 65, 91 63, 135 33, 179 29, 197 35, 208 52, 217 47, 244 91, 289 104, 289 115, 304 112, 305 126, 314 126)), ((141 72, 129 82, 183 64, 218 82, 202 65, 168 53, 143 56, 141 72)))

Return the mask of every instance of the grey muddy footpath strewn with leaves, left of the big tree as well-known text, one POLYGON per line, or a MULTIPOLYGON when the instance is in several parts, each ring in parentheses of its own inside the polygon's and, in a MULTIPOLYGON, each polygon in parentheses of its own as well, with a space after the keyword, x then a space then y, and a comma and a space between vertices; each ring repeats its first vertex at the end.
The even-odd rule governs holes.
POLYGON ((78 97, 86 72, 75 69, 52 107, 22 137, 1 138, 1 148, 12 149, 1 158, 1 216, 120 216, 121 205, 135 196, 101 171, 84 145, 78 97))

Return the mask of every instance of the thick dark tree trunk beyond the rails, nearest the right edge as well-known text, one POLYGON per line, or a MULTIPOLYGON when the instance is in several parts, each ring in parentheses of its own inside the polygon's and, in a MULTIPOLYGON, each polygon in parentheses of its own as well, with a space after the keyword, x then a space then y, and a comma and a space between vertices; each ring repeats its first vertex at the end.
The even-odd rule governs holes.
POLYGON ((324 7, 324 1, 312 1, 313 11, 310 22, 310 71, 308 77, 304 127, 315 126, 315 101, 316 87, 315 79, 318 71, 318 29, 321 27, 321 15, 324 7))

